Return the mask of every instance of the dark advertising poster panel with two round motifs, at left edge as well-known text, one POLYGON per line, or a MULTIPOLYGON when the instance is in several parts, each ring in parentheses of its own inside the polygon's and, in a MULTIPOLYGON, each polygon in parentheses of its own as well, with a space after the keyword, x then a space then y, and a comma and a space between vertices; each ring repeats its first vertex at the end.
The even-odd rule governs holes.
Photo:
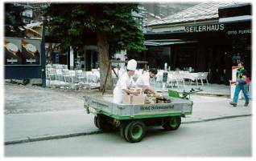
POLYGON ((39 66, 41 40, 28 38, 4 38, 6 66, 39 66))

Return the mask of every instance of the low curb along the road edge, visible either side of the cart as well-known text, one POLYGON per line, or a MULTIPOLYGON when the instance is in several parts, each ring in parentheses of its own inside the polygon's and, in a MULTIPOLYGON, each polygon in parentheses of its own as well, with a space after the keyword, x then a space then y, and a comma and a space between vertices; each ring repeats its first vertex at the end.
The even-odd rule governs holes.
MULTIPOLYGON (((200 119, 195 121, 185 121, 181 124, 189 124, 189 123, 202 123, 202 122, 209 122, 209 121, 215 121, 218 119, 233 119, 233 118, 239 118, 239 117, 247 117, 252 116, 251 114, 247 115, 230 115, 230 116, 223 116, 218 118, 209 118, 209 119, 200 119)), ((27 137, 27 139, 19 139, 19 140, 13 140, 13 141, 6 141, 4 142, 4 145, 13 145, 18 143, 30 143, 30 142, 37 142, 37 141, 45 141, 50 139, 65 139, 65 138, 71 138, 76 136, 83 136, 83 135, 95 135, 95 134, 102 134, 103 131, 89 131, 89 132, 80 132, 80 133, 73 133, 68 135, 50 135, 50 136, 39 136, 36 138, 27 137)))

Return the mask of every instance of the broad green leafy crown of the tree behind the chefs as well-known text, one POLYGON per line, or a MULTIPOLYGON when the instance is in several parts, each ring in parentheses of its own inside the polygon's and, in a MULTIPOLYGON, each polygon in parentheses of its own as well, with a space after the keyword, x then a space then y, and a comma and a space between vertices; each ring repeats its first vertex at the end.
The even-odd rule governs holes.
POLYGON ((52 3, 45 16, 48 31, 62 40, 64 49, 81 49, 88 33, 105 34, 111 53, 118 50, 145 50, 144 38, 131 15, 134 3, 52 3))

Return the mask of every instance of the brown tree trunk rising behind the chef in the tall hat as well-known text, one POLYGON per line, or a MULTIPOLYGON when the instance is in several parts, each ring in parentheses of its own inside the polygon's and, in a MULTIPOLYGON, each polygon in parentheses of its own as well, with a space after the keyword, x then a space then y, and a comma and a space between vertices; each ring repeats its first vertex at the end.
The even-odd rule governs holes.
POLYGON ((100 58, 100 75, 101 75, 101 87, 103 90, 105 84, 105 90, 113 90, 111 64, 109 64, 109 44, 105 34, 97 34, 97 47, 99 50, 100 58), (110 65, 110 66, 109 66, 110 65), (107 80, 105 81, 107 77, 107 80))

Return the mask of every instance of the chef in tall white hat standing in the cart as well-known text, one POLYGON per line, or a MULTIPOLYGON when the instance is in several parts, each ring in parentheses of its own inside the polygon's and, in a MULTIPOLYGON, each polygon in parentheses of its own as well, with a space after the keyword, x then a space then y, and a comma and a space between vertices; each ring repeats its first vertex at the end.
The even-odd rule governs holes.
POLYGON ((127 71, 118 79, 118 83, 113 91, 113 103, 122 103, 122 98, 125 92, 127 94, 138 95, 139 91, 131 91, 130 87, 135 87, 132 76, 135 73, 137 62, 131 59, 127 63, 127 71))

